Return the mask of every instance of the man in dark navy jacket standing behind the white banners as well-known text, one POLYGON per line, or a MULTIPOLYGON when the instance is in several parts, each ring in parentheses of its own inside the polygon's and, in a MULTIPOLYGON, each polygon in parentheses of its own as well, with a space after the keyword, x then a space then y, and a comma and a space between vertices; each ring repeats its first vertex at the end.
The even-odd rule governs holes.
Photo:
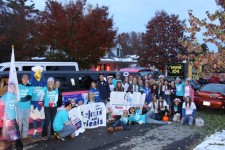
POLYGON ((109 89, 109 84, 107 81, 104 80, 104 75, 102 73, 100 73, 99 75, 99 81, 98 81, 98 89, 99 89, 99 93, 102 99, 102 102, 107 103, 107 100, 110 97, 110 89, 109 89))

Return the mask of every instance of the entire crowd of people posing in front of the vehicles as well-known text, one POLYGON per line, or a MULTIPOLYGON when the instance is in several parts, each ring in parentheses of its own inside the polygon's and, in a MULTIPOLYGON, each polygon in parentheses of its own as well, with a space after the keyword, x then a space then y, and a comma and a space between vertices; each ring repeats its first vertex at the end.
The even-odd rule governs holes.
POLYGON ((6 118, 15 125, 18 124, 22 141, 30 140, 28 138, 30 117, 33 120, 34 138, 37 135, 38 120, 41 122, 43 140, 53 137, 64 140, 66 136, 74 138, 76 129, 69 120, 68 111, 76 104, 96 102, 103 102, 110 109, 111 91, 141 92, 146 94, 146 98, 143 107, 131 107, 124 110, 121 116, 113 116, 107 111, 107 120, 110 117, 115 119, 114 124, 108 128, 109 133, 128 130, 129 125, 134 123, 170 124, 171 121, 178 121, 182 125, 186 122, 193 125, 194 122, 196 106, 193 102, 194 90, 189 80, 184 83, 180 78, 176 78, 175 81, 169 82, 164 76, 159 76, 159 80, 155 81, 151 74, 144 77, 126 75, 122 80, 120 72, 116 73, 115 78, 113 76, 105 78, 104 74, 99 74, 99 80, 91 82, 86 100, 71 100, 63 106, 59 87, 60 82, 49 77, 47 85, 38 89, 29 84, 28 75, 23 75, 19 83, 20 100, 10 104, 6 102, 7 94, 11 92, 13 96, 13 91, 8 91, 1 97, 2 102, 9 106, 6 109, 6 118), (14 109, 11 107, 12 104, 16 108, 16 113, 12 111, 14 109))

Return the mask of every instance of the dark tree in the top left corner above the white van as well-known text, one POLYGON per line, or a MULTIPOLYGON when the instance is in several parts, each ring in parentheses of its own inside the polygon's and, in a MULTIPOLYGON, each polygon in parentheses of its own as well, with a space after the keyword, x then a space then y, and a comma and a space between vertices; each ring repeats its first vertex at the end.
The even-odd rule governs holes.
POLYGON ((0 61, 9 61, 11 46, 15 46, 16 60, 29 60, 40 51, 35 39, 35 17, 38 10, 30 0, 6 0, 1 2, 0 12, 0 61), (30 2, 30 5, 27 5, 30 2), (35 44, 36 43, 36 44, 35 44))

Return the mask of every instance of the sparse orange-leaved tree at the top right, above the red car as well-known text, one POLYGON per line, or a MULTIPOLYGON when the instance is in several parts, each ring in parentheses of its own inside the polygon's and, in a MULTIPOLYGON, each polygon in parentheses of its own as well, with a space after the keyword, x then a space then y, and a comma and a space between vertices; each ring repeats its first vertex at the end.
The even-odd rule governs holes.
POLYGON ((190 34, 190 40, 182 42, 189 53, 202 53, 204 47, 200 46, 196 38, 196 34, 202 32, 205 43, 210 42, 217 46, 218 52, 210 50, 204 55, 194 55, 188 58, 196 66, 204 65, 205 72, 224 72, 225 70, 225 1, 216 0, 216 3, 220 9, 213 14, 207 11, 207 18, 202 20, 195 17, 192 10, 189 10, 190 27, 185 27, 185 30, 190 34))

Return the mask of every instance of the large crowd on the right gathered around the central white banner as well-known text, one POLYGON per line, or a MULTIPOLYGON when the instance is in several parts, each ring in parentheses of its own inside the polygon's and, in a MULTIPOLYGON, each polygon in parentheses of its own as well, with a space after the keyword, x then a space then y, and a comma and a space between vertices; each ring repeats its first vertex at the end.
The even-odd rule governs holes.
POLYGON ((171 121, 181 122, 182 125, 188 123, 193 125, 196 113, 196 106, 193 101, 194 89, 190 85, 190 80, 182 82, 180 78, 168 81, 164 76, 159 76, 159 80, 154 80, 152 74, 148 76, 127 75, 122 80, 118 72, 113 76, 104 77, 99 75, 98 81, 92 81, 88 92, 87 101, 79 101, 81 104, 103 102, 110 109, 110 92, 141 92, 146 94, 145 103, 141 108, 131 107, 124 110, 121 116, 107 113, 113 116, 115 123, 108 128, 108 132, 116 130, 130 129, 129 124, 155 123, 171 124, 171 121))

